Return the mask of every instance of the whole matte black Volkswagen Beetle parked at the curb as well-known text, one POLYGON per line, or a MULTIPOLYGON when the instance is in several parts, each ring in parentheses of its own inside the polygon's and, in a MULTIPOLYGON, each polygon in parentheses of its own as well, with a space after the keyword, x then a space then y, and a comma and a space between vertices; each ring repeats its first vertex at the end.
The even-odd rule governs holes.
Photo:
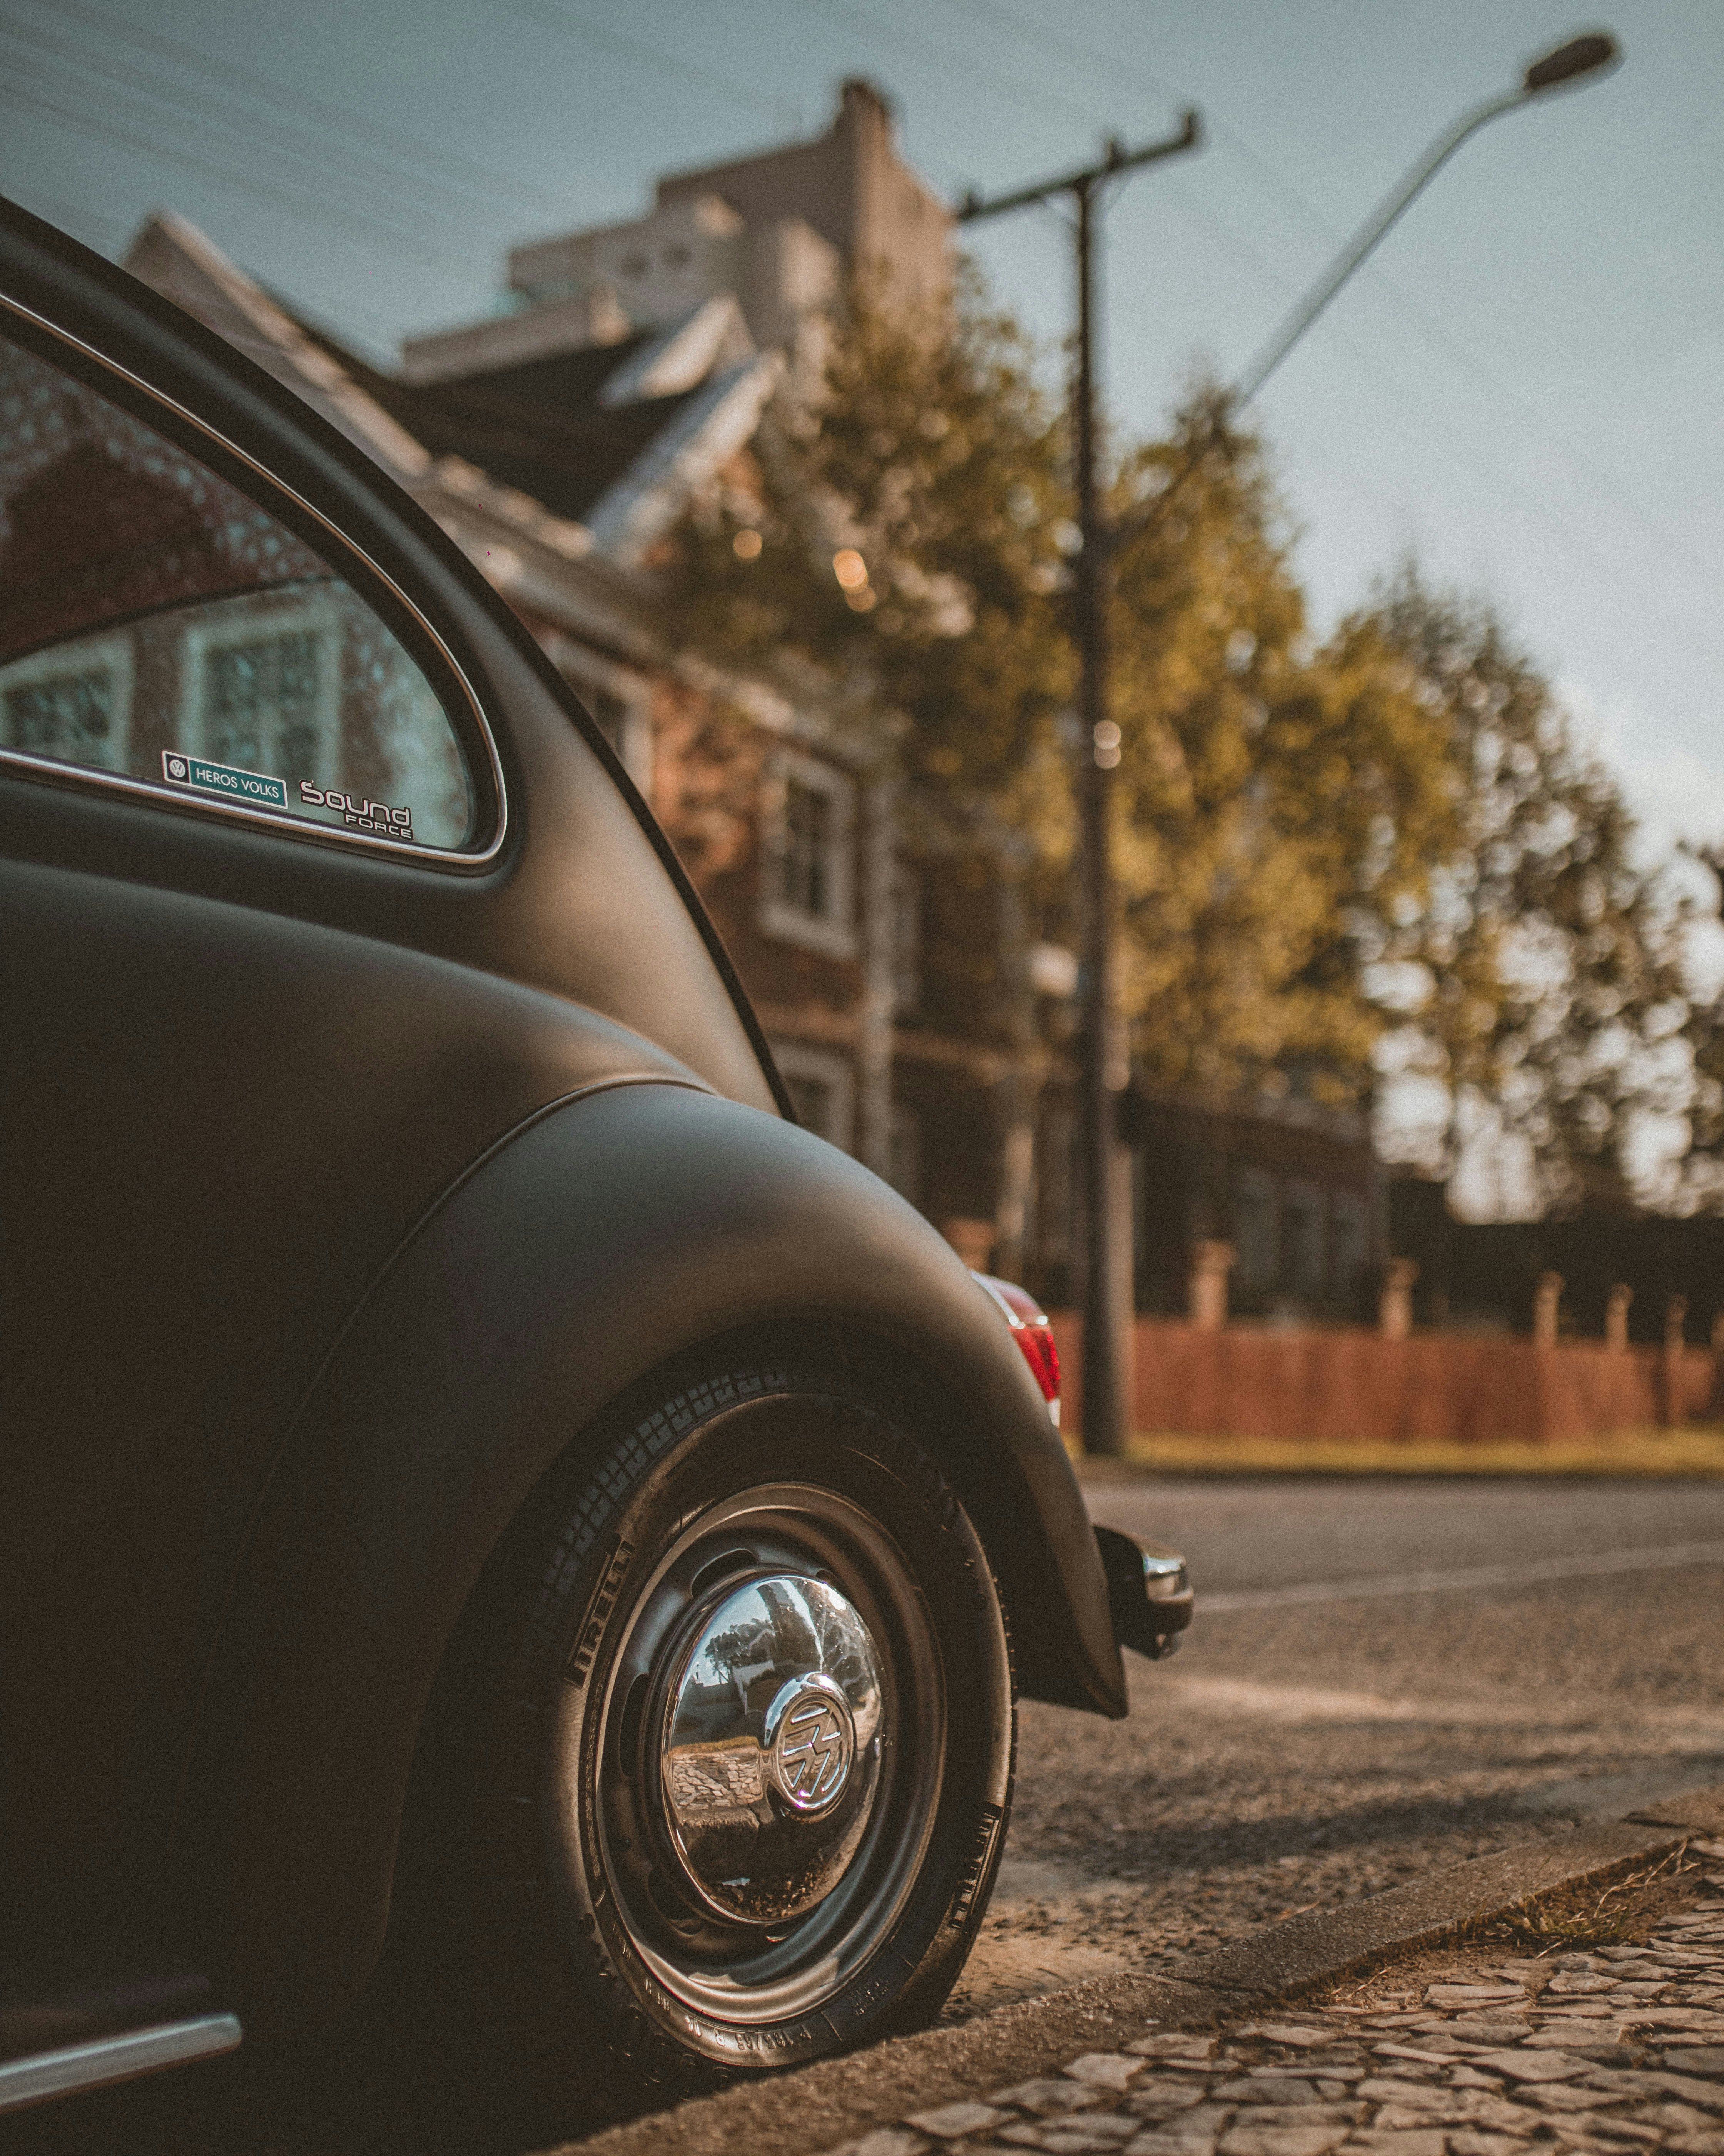
POLYGON ((1123 1714, 1179 1559, 474 567, 13 207, 0 804, 0 2106, 397 1925, 515 2076, 927 2018, 1015 1686, 1123 1714))

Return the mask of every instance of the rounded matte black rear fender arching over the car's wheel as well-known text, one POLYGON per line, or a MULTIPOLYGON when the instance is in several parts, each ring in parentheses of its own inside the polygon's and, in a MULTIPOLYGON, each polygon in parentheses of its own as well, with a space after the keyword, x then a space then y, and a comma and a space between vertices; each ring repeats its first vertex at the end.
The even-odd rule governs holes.
POLYGON ((955 1479, 1026 1690, 1125 1712, 1097 1546, 1024 1358, 877 1177, 694 1087, 565 1102, 493 1149, 349 1322, 215 1651, 185 1807, 198 1930, 248 2029, 328 2018, 388 1921, 420 1716, 509 1520, 629 1386, 741 1328, 871 1337, 957 1404, 955 1479))

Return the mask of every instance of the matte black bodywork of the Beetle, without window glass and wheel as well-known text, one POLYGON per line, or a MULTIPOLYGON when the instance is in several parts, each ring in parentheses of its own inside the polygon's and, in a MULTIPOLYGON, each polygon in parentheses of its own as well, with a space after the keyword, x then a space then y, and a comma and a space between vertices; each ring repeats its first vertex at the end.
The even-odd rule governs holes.
POLYGON ((381 614, 433 621, 502 785, 493 843, 437 862, 0 757, 6 1951, 155 1927, 265 2024, 334 2012, 502 1524, 608 1401, 746 1326, 843 1326, 927 1373, 998 1464, 972 1481, 1026 1688, 1123 1712, 1006 1328, 784 1119, 675 852, 522 623, 356 444, 11 207, 0 298, 129 379, 54 364, 321 520, 381 614))

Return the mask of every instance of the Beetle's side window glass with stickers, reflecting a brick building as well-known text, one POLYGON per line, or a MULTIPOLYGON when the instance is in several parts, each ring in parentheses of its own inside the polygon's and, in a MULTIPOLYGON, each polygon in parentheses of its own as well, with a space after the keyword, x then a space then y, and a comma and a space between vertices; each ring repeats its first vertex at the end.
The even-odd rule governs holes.
POLYGON ((302 539, 0 338, 0 748, 459 847, 442 701, 302 539))

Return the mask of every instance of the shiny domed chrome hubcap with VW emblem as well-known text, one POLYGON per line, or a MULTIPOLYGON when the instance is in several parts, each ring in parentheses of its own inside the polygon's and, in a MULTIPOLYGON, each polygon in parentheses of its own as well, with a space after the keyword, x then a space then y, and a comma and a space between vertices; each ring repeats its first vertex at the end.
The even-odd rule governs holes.
POLYGON ((825 1580, 774 1572, 703 1600, 664 1658, 659 1794, 685 1891, 780 1925, 849 1869, 879 1792, 879 1654, 825 1580))

